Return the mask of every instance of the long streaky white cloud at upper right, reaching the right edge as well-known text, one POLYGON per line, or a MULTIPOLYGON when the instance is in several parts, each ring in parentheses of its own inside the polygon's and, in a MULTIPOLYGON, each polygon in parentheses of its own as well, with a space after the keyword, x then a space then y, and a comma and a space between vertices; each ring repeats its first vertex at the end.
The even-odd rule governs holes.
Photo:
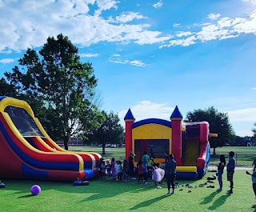
POLYGON ((175 38, 161 44, 159 48, 190 46, 198 42, 237 38, 241 34, 256 34, 256 10, 248 14, 246 18, 223 17, 218 19, 220 14, 209 14, 207 17, 213 22, 194 23, 194 27, 189 26, 187 31, 177 32, 175 38), (191 30, 194 32, 192 33, 191 30), (181 37, 186 38, 180 39, 181 37))

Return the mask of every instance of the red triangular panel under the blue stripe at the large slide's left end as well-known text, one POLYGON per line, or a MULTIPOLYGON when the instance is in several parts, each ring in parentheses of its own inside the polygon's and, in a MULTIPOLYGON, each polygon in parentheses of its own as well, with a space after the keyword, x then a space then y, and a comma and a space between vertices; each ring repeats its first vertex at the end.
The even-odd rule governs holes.
POLYGON ((0 176, 1 178, 22 178, 22 162, 8 146, 0 131, 0 176))

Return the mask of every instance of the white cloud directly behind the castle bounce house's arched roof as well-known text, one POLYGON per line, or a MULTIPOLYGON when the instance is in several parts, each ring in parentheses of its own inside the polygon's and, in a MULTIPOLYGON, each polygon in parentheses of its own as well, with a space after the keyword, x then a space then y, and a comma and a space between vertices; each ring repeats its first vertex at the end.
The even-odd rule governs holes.
MULTIPOLYGON (((131 112, 134 114, 134 118, 137 121, 146 118, 161 118, 170 121, 170 115, 174 111, 174 107, 166 106, 166 104, 142 101, 137 105, 130 107, 131 112)), ((122 110, 118 113, 121 122, 126 116, 127 110, 122 110)))

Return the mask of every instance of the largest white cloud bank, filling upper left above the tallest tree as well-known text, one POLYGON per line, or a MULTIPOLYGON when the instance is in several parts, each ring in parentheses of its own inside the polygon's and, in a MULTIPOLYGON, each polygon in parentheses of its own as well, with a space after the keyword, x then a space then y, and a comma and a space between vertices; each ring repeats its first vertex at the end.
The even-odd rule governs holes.
POLYGON ((105 10, 117 10, 118 3, 111 0, 2 2, 0 51, 39 47, 46 42, 46 38, 60 33, 82 47, 98 42, 134 42, 144 45, 170 39, 169 35, 164 35, 161 31, 149 30, 149 24, 127 23, 134 19, 145 19, 142 14, 123 12, 113 18, 118 23, 111 23, 102 16, 105 10), (94 7, 89 7, 90 4, 94 7))

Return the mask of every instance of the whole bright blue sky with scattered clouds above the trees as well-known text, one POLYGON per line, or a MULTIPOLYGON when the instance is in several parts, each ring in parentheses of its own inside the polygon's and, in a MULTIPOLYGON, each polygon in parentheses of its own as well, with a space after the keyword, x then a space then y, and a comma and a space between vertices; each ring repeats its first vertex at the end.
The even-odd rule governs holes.
POLYGON ((92 62, 102 110, 169 120, 214 106, 252 135, 256 0, 0 0, 0 77, 61 33, 92 62))

